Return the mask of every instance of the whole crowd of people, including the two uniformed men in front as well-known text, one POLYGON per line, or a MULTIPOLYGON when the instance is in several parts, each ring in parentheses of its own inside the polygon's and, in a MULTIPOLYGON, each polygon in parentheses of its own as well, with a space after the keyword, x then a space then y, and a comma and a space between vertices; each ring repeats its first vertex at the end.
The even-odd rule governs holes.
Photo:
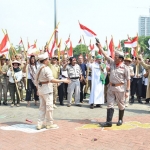
MULTIPOLYGON (((135 102, 135 97, 140 104, 143 104, 142 98, 146 104, 149 103, 150 60, 143 60, 141 55, 136 58, 125 57, 119 50, 115 51, 113 60, 99 43, 97 47, 101 55, 88 55, 86 59, 82 54, 78 58, 68 58, 64 55, 61 60, 56 56, 50 59, 46 52, 41 52, 38 56, 31 55, 27 60, 21 54, 16 54, 11 60, 3 55, 0 58, 0 105, 2 96, 3 105, 8 105, 8 92, 11 96, 11 107, 19 107, 20 102, 24 100, 27 101, 27 107, 30 107, 30 101, 33 99, 34 104, 38 105, 40 99, 38 129, 41 129, 45 114, 50 124, 53 124, 52 110, 57 108, 57 100, 63 106, 66 99, 67 107, 71 107, 74 97, 75 106, 81 107, 89 92, 91 109, 101 108, 102 104, 107 102, 107 121, 102 126, 112 125, 115 102, 119 107, 117 124, 121 125, 124 109, 129 103, 135 102), (47 102, 43 91, 44 94, 49 94, 46 97, 52 101, 47 102)), ((56 127, 54 124, 53 126, 56 127)), ((47 125, 47 128, 53 126, 47 125)))

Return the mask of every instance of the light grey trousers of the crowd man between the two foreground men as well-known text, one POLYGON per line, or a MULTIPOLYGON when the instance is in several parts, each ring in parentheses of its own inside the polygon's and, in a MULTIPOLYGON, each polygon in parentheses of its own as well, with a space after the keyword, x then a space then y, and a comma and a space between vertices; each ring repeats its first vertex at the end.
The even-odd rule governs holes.
POLYGON ((68 92, 68 95, 67 95, 68 104, 71 104, 72 95, 74 92, 75 92, 75 104, 80 103, 80 81, 79 79, 76 81, 71 81, 71 83, 68 84, 67 92, 68 92))

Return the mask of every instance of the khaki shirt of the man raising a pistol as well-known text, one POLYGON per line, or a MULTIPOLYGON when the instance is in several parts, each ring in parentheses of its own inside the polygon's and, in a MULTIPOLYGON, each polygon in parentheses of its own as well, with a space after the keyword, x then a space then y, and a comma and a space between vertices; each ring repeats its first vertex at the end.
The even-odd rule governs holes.
MULTIPOLYGON (((114 60, 109 58, 110 60, 110 82, 113 84, 125 83, 125 81, 130 80, 130 70, 129 67, 124 63, 120 64, 120 66, 116 66, 114 60)), ((121 86, 110 86, 112 91, 124 92, 125 84, 121 86)))

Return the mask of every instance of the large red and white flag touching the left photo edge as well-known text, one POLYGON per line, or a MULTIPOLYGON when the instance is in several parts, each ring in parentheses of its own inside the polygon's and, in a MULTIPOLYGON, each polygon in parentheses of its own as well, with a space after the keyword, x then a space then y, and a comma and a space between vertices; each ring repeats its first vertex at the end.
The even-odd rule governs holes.
POLYGON ((0 54, 1 55, 7 54, 9 49, 10 49, 10 43, 9 43, 8 34, 5 34, 0 44, 0 54))

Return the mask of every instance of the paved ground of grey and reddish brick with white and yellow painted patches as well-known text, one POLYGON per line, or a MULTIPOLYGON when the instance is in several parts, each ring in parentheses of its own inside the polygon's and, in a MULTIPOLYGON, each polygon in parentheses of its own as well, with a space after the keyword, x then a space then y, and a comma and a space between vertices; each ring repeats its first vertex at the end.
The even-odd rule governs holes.
POLYGON ((59 106, 54 110, 58 129, 37 132, 38 107, 21 103, 20 107, 0 106, 0 150, 148 150, 150 149, 150 105, 129 105, 124 125, 101 128, 106 106, 89 109, 83 106, 59 106), (32 121, 27 122, 26 119, 32 121))

